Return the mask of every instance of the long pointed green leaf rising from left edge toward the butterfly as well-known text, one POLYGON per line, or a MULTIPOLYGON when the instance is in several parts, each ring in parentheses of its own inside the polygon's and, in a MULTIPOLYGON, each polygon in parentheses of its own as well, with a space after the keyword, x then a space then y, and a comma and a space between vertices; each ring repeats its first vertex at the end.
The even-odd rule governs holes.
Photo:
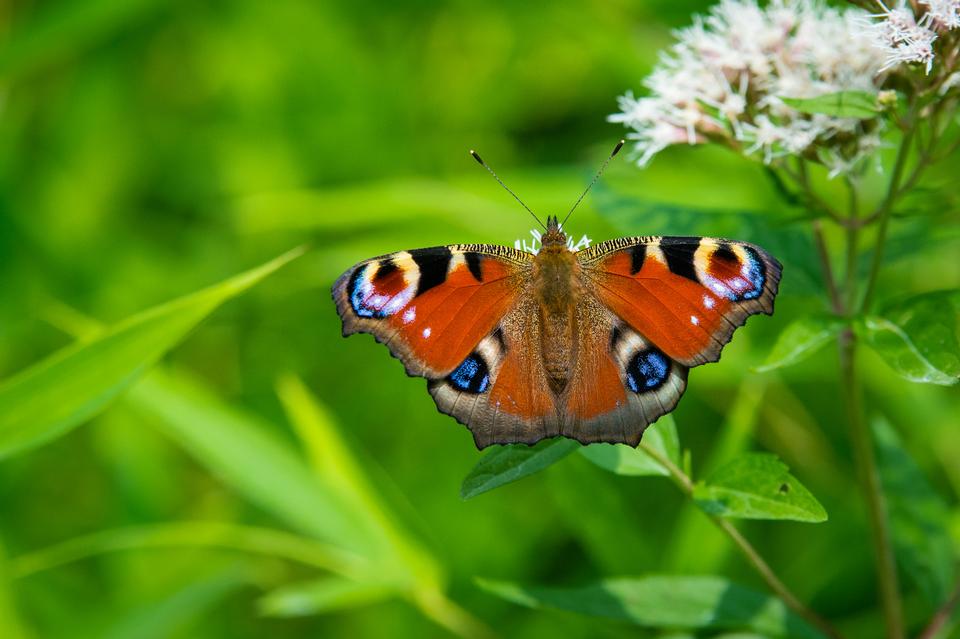
POLYGON ((135 315, 0 384, 0 458, 38 446, 103 410, 218 306, 303 253, 135 315))

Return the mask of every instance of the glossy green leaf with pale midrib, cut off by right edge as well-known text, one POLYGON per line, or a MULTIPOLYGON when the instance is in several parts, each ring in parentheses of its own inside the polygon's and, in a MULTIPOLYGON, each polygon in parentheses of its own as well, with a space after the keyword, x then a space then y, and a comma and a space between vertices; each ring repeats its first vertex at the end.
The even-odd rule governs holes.
POLYGON ((913 382, 950 386, 960 380, 960 291, 927 293, 867 317, 866 342, 913 382))

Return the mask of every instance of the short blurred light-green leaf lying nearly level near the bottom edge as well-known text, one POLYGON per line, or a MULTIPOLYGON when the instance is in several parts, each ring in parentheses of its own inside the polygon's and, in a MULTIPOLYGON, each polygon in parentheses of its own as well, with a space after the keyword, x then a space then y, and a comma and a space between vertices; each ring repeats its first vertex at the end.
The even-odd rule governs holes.
POLYGON ((323 577, 273 590, 257 602, 257 609, 268 617, 305 617, 375 603, 396 594, 396 588, 385 584, 323 577))

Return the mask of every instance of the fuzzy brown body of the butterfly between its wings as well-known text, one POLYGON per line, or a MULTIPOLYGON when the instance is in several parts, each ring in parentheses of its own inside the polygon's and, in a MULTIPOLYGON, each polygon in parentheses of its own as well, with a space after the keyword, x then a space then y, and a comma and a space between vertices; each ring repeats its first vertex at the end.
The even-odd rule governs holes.
POLYGON ((533 290, 540 307, 540 349, 550 388, 560 394, 573 369, 580 264, 566 235, 551 219, 533 260, 533 290))

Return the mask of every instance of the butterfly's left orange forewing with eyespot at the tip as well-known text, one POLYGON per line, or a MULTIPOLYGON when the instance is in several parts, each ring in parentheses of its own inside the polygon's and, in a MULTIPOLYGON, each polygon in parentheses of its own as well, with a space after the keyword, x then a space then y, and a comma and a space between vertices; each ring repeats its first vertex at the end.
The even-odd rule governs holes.
POLYGON ((333 285, 343 334, 373 334, 410 375, 446 377, 516 305, 530 258, 469 244, 360 262, 333 285))

